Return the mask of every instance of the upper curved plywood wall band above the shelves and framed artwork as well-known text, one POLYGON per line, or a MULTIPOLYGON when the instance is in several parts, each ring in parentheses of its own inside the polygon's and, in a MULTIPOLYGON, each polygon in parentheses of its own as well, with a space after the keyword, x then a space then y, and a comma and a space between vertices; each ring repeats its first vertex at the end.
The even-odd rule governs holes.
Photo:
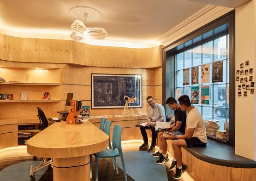
POLYGON ((162 46, 122 48, 87 45, 73 40, 18 38, 0 34, 0 59, 95 67, 156 68, 162 65, 162 46))

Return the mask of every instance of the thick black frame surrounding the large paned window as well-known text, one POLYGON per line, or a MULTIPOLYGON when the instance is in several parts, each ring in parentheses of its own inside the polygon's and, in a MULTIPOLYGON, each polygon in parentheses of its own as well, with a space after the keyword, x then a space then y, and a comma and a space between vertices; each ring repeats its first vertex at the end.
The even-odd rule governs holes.
MULTIPOLYGON (((214 28, 219 27, 222 24, 228 23, 228 35, 229 35, 229 144, 231 146, 235 146, 235 10, 232 10, 225 15, 215 19, 214 21, 207 23, 206 25, 202 26, 201 28, 196 29, 195 31, 191 32, 190 34, 185 35, 184 37, 180 38, 179 40, 174 41, 172 44, 167 45, 163 48, 163 67, 162 67, 162 81, 163 81, 163 89, 162 89, 162 104, 165 105, 166 99, 166 60, 169 58, 173 58, 173 54, 184 51, 185 49, 189 49, 190 46, 186 46, 179 51, 175 50, 175 47, 184 44, 185 42, 192 40, 214 28)), ((226 32, 222 32, 220 34, 216 34, 211 36, 210 39, 215 37, 220 37, 221 34, 226 34, 226 32)), ((197 44, 202 44, 203 42, 207 42, 209 39, 204 39, 202 41, 198 41, 197 43, 193 44, 196 46, 197 44)), ((175 82, 175 67, 174 62, 171 61, 170 66, 171 79, 175 82)), ((175 87, 175 86, 174 86, 175 87)), ((171 95, 175 95, 174 88, 171 89, 171 95)), ((170 95, 170 94, 168 94, 170 95)), ((165 105, 166 106, 166 105, 165 105)))

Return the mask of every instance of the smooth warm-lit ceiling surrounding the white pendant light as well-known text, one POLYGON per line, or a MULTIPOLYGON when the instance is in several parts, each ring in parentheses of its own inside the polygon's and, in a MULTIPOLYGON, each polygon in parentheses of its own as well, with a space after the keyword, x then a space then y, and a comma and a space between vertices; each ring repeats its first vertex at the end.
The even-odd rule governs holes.
POLYGON ((68 11, 77 5, 101 12, 103 17, 86 20, 86 26, 105 28, 107 40, 145 43, 206 6, 188 0, 0 0, 0 33, 71 40, 75 18, 68 11))

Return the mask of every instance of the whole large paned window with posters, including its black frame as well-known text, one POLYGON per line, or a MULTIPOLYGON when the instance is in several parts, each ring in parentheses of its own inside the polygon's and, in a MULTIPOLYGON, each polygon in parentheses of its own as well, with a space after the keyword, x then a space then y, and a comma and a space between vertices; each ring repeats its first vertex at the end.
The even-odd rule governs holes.
MULTIPOLYGON (((166 47, 163 64, 163 96, 178 99, 188 95, 204 120, 215 121, 219 130, 229 126, 231 145, 235 104, 233 37, 233 14, 229 13, 166 47)), ((166 112, 173 114, 167 107, 166 112)), ((214 137, 208 130, 208 138, 214 137)))

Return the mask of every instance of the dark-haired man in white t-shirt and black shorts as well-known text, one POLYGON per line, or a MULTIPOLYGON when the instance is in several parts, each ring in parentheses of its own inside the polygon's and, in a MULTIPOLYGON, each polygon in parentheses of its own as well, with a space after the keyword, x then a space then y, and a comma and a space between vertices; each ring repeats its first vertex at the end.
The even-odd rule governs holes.
POLYGON ((202 115, 196 107, 191 106, 189 96, 183 95, 179 99, 179 107, 187 112, 185 135, 171 135, 173 141, 174 158, 172 166, 176 165, 174 178, 180 178, 182 172, 186 170, 186 165, 182 164, 181 147, 205 147, 207 143, 206 129, 202 115))

